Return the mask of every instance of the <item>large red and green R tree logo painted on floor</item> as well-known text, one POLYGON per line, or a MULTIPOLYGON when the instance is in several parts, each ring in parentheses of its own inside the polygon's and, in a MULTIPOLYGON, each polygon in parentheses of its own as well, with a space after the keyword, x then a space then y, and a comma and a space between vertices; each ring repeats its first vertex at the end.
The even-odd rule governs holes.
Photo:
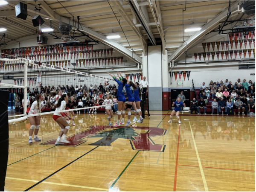
MULTIPOLYGON (((89 145, 111 146, 117 139, 129 140, 133 150, 160 151, 163 152, 166 145, 156 144, 152 137, 162 137, 166 134, 166 129, 156 127, 119 127, 91 126, 85 131, 67 137, 70 143, 62 146, 76 147, 91 139, 99 138, 98 141, 89 145)), ((56 140, 50 140, 41 145, 55 145, 56 140)))

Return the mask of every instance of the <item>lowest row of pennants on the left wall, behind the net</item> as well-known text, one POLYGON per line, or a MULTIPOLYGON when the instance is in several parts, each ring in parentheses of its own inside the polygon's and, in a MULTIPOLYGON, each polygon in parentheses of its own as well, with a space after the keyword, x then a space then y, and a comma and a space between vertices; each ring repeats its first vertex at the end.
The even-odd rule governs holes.
MULTIPOLYGON (((93 59, 76 59, 76 67, 78 67, 78 64, 80 65, 81 67, 81 64, 84 65, 85 67, 85 64, 86 64, 86 67, 88 66, 91 66, 91 64, 94 66, 97 65, 97 62, 99 63, 99 66, 100 66, 100 63, 102 62, 102 65, 105 63, 105 65, 108 63, 108 65, 111 63, 113 65, 113 62, 115 63, 116 65, 116 61, 117 61, 117 64, 120 63, 121 61, 121 64, 122 64, 122 61, 123 61, 123 57, 108 57, 108 58, 93 58, 93 59)), ((15 61, 1 61, 0 62, 0 71, 2 71, 2 68, 4 69, 5 67, 5 70, 7 70, 8 68, 8 71, 9 71, 9 67, 10 67, 10 70, 21 70, 21 66, 22 66, 22 70, 24 70, 24 63, 13 63, 15 61)), ((50 65, 56 65, 57 67, 63 67, 64 64, 65 64, 65 68, 67 68, 67 64, 68 64, 68 67, 70 67, 70 60, 65 60, 65 61, 48 61, 47 64, 50 64, 50 65)), ((33 69, 33 64, 31 64, 31 69, 33 69)), ((34 65, 34 69, 35 69, 35 65, 34 65)), ((37 65, 37 69, 38 69, 38 65, 37 65)))

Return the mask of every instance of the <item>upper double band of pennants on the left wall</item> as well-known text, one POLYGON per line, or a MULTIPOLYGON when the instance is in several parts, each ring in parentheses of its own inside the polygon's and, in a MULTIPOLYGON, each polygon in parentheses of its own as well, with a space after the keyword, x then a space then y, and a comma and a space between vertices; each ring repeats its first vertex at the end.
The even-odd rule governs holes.
POLYGON ((15 58, 15 57, 20 57, 20 58, 29 58, 30 60, 33 60, 33 57, 38 59, 43 57, 47 57, 48 61, 52 60, 64 60, 69 56, 70 53, 70 57, 71 59, 74 56, 74 59, 79 59, 79 55, 80 58, 84 58, 84 55, 86 56, 86 58, 90 58, 90 56, 92 56, 93 58, 93 54, 94 57, 99 58, 99 54, 102 55, 104 54, 104 57, 106 57, 106 54, 109 56, 109 53, 111 53, 111 56, 113 54, 113 49, 93 49, 93 45, 81 45, 81 46, 63 46, 63 44, 56 44, 56 45, 46 45, 46 46, 41 46, 41 48, 39 46, 32 46, 32 47, 20 47, 20 48, 13 48, 13 49, 2 49, 1 51, 2 53, 6 54, 2 54, 1 58, 15 58), (11 56, 9 56, 11 55, 11 56))

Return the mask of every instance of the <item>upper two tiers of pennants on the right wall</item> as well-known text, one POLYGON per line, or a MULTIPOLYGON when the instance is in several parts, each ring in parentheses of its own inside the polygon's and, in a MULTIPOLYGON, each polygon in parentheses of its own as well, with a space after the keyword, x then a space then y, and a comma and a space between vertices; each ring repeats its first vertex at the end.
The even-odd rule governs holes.
POLYGON ((241 35, 241 33, 229 33, 230 41, 217 41, 217 42, 202 43, 204 52, 205 52, 206 46, 207 46, 207 49, 209 51, 211 45, 212 45, 212 50, 214 51, 215 44, 217 46, 218 51, 219 51, 220 45, 221 45, 222 50, 224 50, 224 45, 225 44, 226 44, 226 49, 228 49, 229 44, 231 46, 231 49, 233 49, 234 42, 235 42, 236 49, 237 49, 238 43, 240 45, 240 49, 242 49, 243 42, 244 42, 244 48, 246 48, 247 42, 249 42, 250 48, 251 48, 252 42, 253 42, 254 47, 255 47, 255 38, 253 38, 253 36, 255 35, 255 31, 254 32, 244 32, 243 34, 244 35, 241 35), (243 36, 244 36, 244 39, 242 38, 243 36), (233 40, 233 37, 234 37, 234 40, 233 40), (248 37, 250 37, 250 39, 248 39, 248 37))

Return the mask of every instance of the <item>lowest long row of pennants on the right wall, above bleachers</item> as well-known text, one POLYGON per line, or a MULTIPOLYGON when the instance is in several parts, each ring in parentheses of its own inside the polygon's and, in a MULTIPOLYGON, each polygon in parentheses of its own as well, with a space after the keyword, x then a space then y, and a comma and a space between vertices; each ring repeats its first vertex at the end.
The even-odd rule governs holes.
POLYGON ((195 57, 195 61, 197 60, 197 58, 199 58, 199 60, 201 61, 201 57, 203 55, 204 61, 207 55, 208 61, 210 59, 210 56, 212 55, 212 60, 214 60, 215 54, 217 55, 217 58, 219 60, 219 56, 221 54, 221 58, 224 58, 224 54, 226 56, 226 59, 228 59, 228 55, 230 55, 230 58, 233 58, 233 54, 235 55, 235 59, 237 57, 237 53, 239 53, 239 57, 242 57, 242 53, 244 54, 244 58, 246 57, 246 53, 248 51, 249 53, 249 58, 251 57, 251 53, 253 50, 253 55, 255 58, 255 49, 240 49, 240 50, 229 50, 229 51, 216 51, 216 52, 198 52, 198 53, 194 53, 194 57, 195 57))

